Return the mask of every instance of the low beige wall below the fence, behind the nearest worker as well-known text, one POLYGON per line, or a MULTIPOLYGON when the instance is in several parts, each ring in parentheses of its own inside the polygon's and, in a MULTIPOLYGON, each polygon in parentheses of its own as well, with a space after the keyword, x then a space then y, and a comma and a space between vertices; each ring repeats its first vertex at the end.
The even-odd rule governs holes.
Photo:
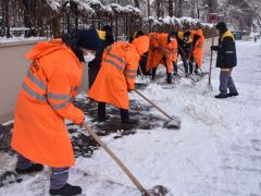
MULTIPOLYGON (((20 87, 29 66, 25 53, 36 44, 32 41, 0 42, 0 123, 13 119, 20 87)), ((85 68, 82 90, 88 89, 88 70, 85 68)))

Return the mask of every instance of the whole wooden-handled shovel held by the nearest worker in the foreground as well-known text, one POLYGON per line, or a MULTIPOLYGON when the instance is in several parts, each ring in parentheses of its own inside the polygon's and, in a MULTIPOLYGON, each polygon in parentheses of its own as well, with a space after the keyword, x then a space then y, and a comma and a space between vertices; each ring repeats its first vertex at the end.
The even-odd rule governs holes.
POLYGON ((165 196, 167 189, 162 185, 156 185, 152 189, 145 189, 145 187, 139 183, 139 181, 134 176, 134 174, 123 164, 123 162, 113 154, 113 151, 105 145, 103 140, 86 124, 83 126, 87 132, 95 138, 95 140, 109 154, 109 156, 121 167, 124 173, 130 179, 135 186, 140 191, 141 196, 165 196))

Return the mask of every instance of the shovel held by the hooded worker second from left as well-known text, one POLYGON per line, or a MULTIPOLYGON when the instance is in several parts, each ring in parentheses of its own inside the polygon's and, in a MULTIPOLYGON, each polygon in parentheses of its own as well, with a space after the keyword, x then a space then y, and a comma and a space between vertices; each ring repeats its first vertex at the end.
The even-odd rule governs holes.
POLYGON ((167 128, 181 128, 181 120, 177 117, 171 117, 164 110, 162 110, 160 107, 158 107, 154 102, 149 100, 147 97, 145 97, 139 90, 134 89, 136 94, 138 94, 140 97, 142 97, 145 100, 147 100, 152 107, 154 107, 157 110, 159 110, 163 115, 165 115, 169 121, 164 123, 164 127, 167 128))

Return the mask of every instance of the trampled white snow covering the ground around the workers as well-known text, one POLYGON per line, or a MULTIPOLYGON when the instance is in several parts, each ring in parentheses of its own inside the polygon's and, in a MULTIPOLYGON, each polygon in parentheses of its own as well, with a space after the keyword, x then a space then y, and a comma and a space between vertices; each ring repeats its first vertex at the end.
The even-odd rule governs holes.
MULTIPOLYGON (((181 78, 175 88, 150 84, 142 93, 169 113, 182 128, 139 130, 137 134, 102 139, 141 184, 161 184, 175 196, 261 195, 261 42, 238 41, 238 66, 233 76, 239 97, 216 100, 219 69, 213 69, 213 91, 208 78, 198 84, 181 78)), ((204 71, 209 69, 206 58, 204 71)), ((164 71, 164 70, 162 70, 164 71)), ((134 93, 130 99, 138 99, 134 93)), ((159 115, 158 111, 154 111, 159 115)), ((137 117, 138 118, 138 117, 137 117)), ((11 161, 8 168, 13 167, 11 161)), ((0 195, 48 195, 49 170, 27 181, 0 188, 0 195)), ((88 196, 136 196, 138 191, 104 152, 78 158, 71 183, 88 196)))

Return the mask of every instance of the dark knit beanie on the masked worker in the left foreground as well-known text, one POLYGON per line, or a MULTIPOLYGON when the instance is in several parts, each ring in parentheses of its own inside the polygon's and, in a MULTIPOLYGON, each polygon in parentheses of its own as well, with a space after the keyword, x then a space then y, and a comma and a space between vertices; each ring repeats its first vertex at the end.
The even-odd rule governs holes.
POLYGON ((100 38, 96 29, 80 29, 78 32, 78 46, 85 49, 97 51, 100 46, 100 38))

